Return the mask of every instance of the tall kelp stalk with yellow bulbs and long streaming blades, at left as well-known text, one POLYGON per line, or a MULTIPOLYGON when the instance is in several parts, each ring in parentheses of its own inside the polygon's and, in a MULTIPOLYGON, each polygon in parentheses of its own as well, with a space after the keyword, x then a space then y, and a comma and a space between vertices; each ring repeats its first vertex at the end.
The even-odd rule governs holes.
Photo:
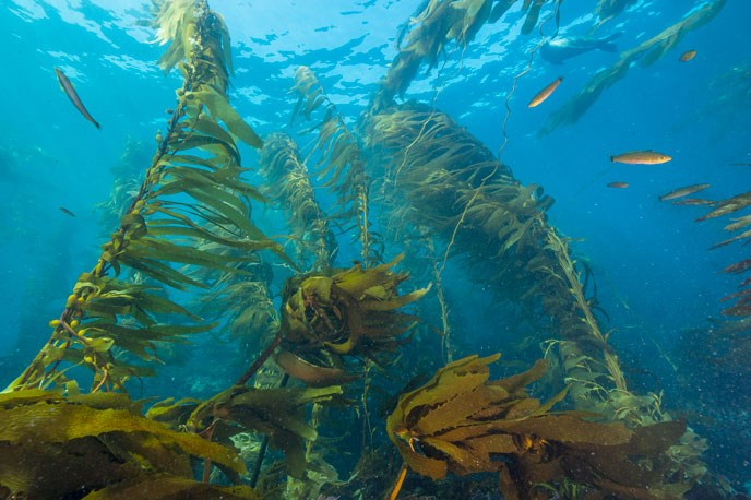
POLYGON ((159 324, 159 314, 199 318, 150 288, 117 279, 123 267, 151 283, 184 289, 206 286, 191 276, 191 269, 241 272, 233 263, 248 261, 261 249, 284 257, 278 243, 250 219, 250 201, 261 195, 241 180, 245 169, 236 138, 255 147, 261 141, 227 103, 224 23, 205 1, 179 1, 163 4, 156 25, 159 39, 172 41, 170 50, 180 56, 170 56, 165 68, 179 66, 184 79, 169 128, 164 136, 157 134, 158 150, 145 179, 103 245, 98 262, 81 275, 60 318, 50 322, 50 341, 8 390, 63 382, 57 371, 63 360, 91 368, 94 391, 123 390, 129 377, 147 370, 117 359, 114 348, 151 360, 154 342, 174 342, 211 328, 159 324), (215 247, 200 248, 206 241, 215 247), (225 255, 215 248, 246 253, 225 255))

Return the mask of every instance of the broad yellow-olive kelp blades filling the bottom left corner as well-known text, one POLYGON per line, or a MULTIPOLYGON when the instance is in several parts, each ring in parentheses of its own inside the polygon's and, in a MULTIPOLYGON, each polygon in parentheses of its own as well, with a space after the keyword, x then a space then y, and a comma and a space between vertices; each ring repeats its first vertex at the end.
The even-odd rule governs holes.
POLYGON ((148 498, 175 498, 176 491, 259 498, 246 487, 195 483, 191 457, 211 460, 235 477, 245 464, 231 450, 170 430, 140 409, 122 394, 62 397, 22 390, 0 395, 0 492, 9 498, 112 498, 124 491, 148 491, 148 498))

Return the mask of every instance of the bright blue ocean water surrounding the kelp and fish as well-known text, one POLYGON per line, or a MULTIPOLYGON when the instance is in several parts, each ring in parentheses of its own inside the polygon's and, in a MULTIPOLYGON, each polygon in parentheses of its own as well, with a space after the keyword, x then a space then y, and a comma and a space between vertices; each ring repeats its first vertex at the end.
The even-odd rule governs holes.
MULTIPOLYGON (((400 29, 405 22, 412 20, 414 26, 419 21, 416 12, 421 3, 211 1, 231 34, 230 103, 259 135, 284 131, 309 152, 314 135, 308 129, 314 120, 298 118, 290 126, 297 69, 307 66, 314 71, 338 112, 355 128, 397 53, 400 29)), ((720 361, 728 344, 708 338, 722 330, 720 311, 731 303, 722 299, 737 291, 744 277, 723 270, 748 259, 748 247, 736 242, 710 250, 729 237, 723 228, 730 218, 698 223, 711 209, 675 205, 658 197, 699 183, 711 184, 695 194, 708 200, 749 191, 751 3, 637 0, 598 25, 592 11, 595 2, 547 2, 528 34, 521 33, 522 3, 515 2, 499 21, 482 26, 466 47, 449 43, 436 67, 428 71, 422 64, 396 102, 414 100, 444 111, 500 154, 518 181, 539 184, 555 198, 549 223, 572 238, 573 254, 593 272, 599 306, 609 318, 603 330, 611 330, 609 342, 630 386, 641 393, 664 391, 664 406, 708 439, 704 457, 713 474, 742 491, 751 478, 751 349, 746 347, 747 357, 720 361), (686 29, 654 63, 627 64, 623 76, 605 88, 577 121, 541 132, 556 112, 624 52, 703 5, 719 3, 715 16, 686 29), (573 44, 579 38, 593 45, 609 36, 616 50, 583 50, 562 63, 546 60, 539 50, 551 40, 573 44), (681 61, 688 50, 695 50, 695 57, 681 61), (527 107, 535 94, 560 76, 561 84, 547 100, 527 107), (610 159, 644 150, 672 159, 659 165, 610 159), (616 181, 629 186, 607 187, 616 181)), ((96 205, 109 198, 123 169, 139 175, 139 165, 147 166, 157 130, 166 130, 165 109, 174 106, 181 80, 176 70, 164 74, 157 66, 166 47, 154 43, 155 32, 139 22, 150 19, 150 8, 151 2, 140 0, 8 0, 0 7, 3 386, 48 340, 48 321, 60 314, 78 276, 93 267, 100 246, 115 230, 96 205), (100 130, 61 92, 55 68, 68 75, 100 130)), ((241 153, 243 165, 257 168, 258 153, 245 145, 241 153)), ((250 178, 254 183, 264 181, 255 174, 250 178)), ((331 207, 334 197, 314 182, 320 202, 331 207)), ((376 178, 374 184, 379 182, 376 178)), ((388 212, 388 206, 374 203, 376 213, 388 212)), ((281 241, 285 241, 284 217, 261 204, 253 212, 254 222, 281 241)), ((381 222, 373 224, 379 227, 381 222)), ((349 266, 358 258, 357 241, 350 236, 338 236, 336 265, 349 266)), ((386 260, 400 251, 400 241, 386 241, 386 260)), ((450 258, 443 283, 454 335, 460 336, 456 355, 501 352, 504 359, 529 365, 531 352, 515 354, 518 338, 508 333, 514 331, 511 323, 516 318, 509 312, 509 302, 479 279, 477 269, 484 264, 470 265, 467 260, 450 258)), ((403 265, 409 269, 408 262, 403 265)), ((273 289, 278 293, 288 272, 277 274, 273 289)), ((421 279, 405 288, 430 281, 421 279)), ((274 300, 278 307, 279 298, 274 300)), ((434 316, 426 321, 440 323, 434 316)), ((163 378, 146 381, 145 394, 208 396, 226 386, 236 374, 233 368, 219 370, 216 365, 233 347, 214 345, 211 338, 204 334, 195 342, 213 354, 204 359, 186 348, 182 365, 159 368, 163 378), (216 373, 220 376, 212 379, 216 373), (175 394, 167 393, 170 389, 175 394)), ((748 332, 734 338, 737 345, 749 344, 748 332)), ((438 344, 426 345, 434 350, 438 344)), ((440 352, 434 355, 439 360, 440 352)), ((536 356, 541 355, 540 349, 536 356)), ((242 369, 237 370, 239 374, 242 369)))

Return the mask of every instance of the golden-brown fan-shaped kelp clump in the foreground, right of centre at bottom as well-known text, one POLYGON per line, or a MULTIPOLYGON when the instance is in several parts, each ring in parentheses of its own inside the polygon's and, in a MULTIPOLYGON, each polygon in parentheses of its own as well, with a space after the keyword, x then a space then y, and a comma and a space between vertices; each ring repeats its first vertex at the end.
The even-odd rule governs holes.
POLYGON ((546 362, 490 382, 488 365, 499 356, 454 361, 400 397, 386 429, 409 468, 432 479, 500 472, 505 498, 529 498, 534 485, 564 480, 589 485, 597 495, 637 499, 678 499, 688 490, 665 467, 665 452, 683 433, 683 422, 634 431, 577 413, 551 413, 564 393, 543 404, 525 390, 546 362))

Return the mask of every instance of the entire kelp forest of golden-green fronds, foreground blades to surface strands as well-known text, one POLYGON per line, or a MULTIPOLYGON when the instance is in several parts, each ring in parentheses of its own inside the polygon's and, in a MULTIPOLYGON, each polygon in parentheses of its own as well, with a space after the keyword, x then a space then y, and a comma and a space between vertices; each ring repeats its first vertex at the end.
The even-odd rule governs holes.
MULTIPOLYGON (((529 62, 508 90, 500 151, 403 98, 512 8, 520 36, 555 36, 561 3, 426 1, 359 116, 300 67, 288 119, 260 136, 230 100, 220 13, 157 2, 158 66, 182 84, 151 156, 123 155, 140 165, 116 172, 100 206, 98 259, 0 393, 0 496, 730 498, 690 415, 665 407, 663 388, 630 384, 576 235, 548 219, 553 198, 503 163, 508 98, 539 46, 514 56, 529 62), (261 206, 284 228, 263 227, 261 206), (482 312, 452 303, 456 276, 496 305, 499 332, 481 352, 466 332, 482 312), (212 395, 144 396, 206 343, 225 353, 220 368, 193 368, 212 395)), ((600 0, 596 22, 632 3, 600 0)), ((576 121, 723 5, 624 50, 541 132, 576 121)), ((751 216, 732 218, 749 205, 742 193, 706 209, 700 221, 727 219, 718 247, 749 241, 751 216)), ((725 270, 742 282, 722 328, 684 333, 693 356, 713 345, 713 364, 747 376, 750 269, 725 270)))

